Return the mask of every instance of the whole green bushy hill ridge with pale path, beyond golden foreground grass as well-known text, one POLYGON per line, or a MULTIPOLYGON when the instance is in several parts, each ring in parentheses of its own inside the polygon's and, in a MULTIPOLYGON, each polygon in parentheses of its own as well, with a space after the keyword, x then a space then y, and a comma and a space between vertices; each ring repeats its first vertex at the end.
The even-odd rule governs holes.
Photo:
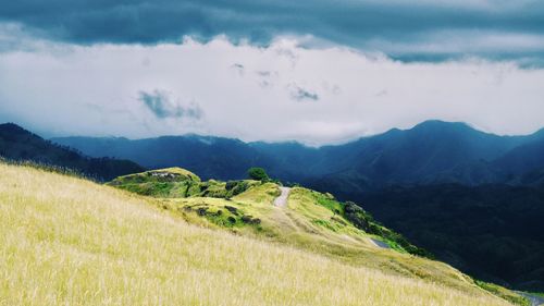
MULTIPOLYGON (((158 207, 190 223, 285 243, 342 262, 423 279, 463 291, 475 283, 452 267, 420 256, 420 249, 373 220, 354 203, 304 187, 289 188, 285 205, 273 205, 280 185, 252 180, 202 182, 180 168, 118 178, 109 185, 153 197, 158 207), (165 174, 165 173, 170 173, 165 174)), ((485 287, 485 286, 484 286, 485 287)), ((507 291, 511 301, 521 301, 507 291)))

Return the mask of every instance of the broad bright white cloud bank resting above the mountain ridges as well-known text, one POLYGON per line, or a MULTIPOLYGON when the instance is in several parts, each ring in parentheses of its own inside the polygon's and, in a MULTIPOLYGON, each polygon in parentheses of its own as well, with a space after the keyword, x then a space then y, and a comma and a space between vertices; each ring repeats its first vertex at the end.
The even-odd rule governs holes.
MULTIPOLYGON (((482 60, 403 63, 347 48, 209 44, 41 44, 0 53, 0 120, 50 135, 185 133, 335 143, 428 119, 499 134, 544 126, 544 70, 482 60), (294 84, 316 99, 293 99, 294 84), (169 93, 199 120, 158 117, 141 93, 169 93)), ((298 93, 298 91, 297 91, 298 93)), ((301 93, 301 91, 300 91, 301 93)), ((174 107, 174 106, 172 106, 174 107)))

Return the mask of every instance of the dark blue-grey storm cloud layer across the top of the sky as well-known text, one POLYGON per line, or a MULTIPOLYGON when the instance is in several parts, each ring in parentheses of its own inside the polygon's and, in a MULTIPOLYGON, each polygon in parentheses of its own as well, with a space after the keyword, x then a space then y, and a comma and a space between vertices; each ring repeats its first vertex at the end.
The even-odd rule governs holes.
MULTIPOLYGON (((306 35, 401 60, 442 61, 467 54, 541 59, 528 39, 474 46, 474 35, 544 33, 543 1, 446 0, 17 0, 4 1, 0 20, 51 39, 76 44, 202 40, 267 45, 282 34, 306 35), (454 46, 448 45, 456 40, 454 46), (465 46, 463 44, 468 45, 465 46), (436 46, 438 45, 438 46, 436 46), (429 47, 431 46, 431 47, 429 47), (441 48, 442 46, 442 48, 441 48), (428 49, 425 49, 428 48, 428 49)), ((536 37, 537 38, 537 37, 536 37)), ((536 39, 535 38, 535 39, 536 39)), ((500 39, 498 39, 500 40, 500 39)), ((534 39, 533 39, 534 40, 534 39)))

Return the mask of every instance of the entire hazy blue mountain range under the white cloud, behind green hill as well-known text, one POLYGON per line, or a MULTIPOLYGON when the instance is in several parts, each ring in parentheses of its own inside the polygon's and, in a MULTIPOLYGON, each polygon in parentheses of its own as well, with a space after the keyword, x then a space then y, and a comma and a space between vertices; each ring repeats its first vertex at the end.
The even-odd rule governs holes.
POLYGON ((519 182, 533 166, 544 167, 542 134, 497 136, 465 123, 426 121, 320 148, 197 135, 52 140, 94 157, 131 159, 148 168, 177 166, 203 178, 240 179, 247 168, 260 166, 284 181, 353 193, 394 184, 519 182))

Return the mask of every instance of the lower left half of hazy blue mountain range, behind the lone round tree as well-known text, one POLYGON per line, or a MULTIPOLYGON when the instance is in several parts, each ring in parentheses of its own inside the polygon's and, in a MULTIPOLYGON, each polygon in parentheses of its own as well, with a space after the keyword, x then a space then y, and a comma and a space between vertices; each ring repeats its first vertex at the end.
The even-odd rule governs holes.
POLYGON ((176 166, 201 173, 205 179, 245 178, 247 169, 252 166, 272 166, 271 160, 249 145, 221 137, 187 135, 138 140, 66 137, 52 140, 91 157, 129 159, 149 169, 176 166))

